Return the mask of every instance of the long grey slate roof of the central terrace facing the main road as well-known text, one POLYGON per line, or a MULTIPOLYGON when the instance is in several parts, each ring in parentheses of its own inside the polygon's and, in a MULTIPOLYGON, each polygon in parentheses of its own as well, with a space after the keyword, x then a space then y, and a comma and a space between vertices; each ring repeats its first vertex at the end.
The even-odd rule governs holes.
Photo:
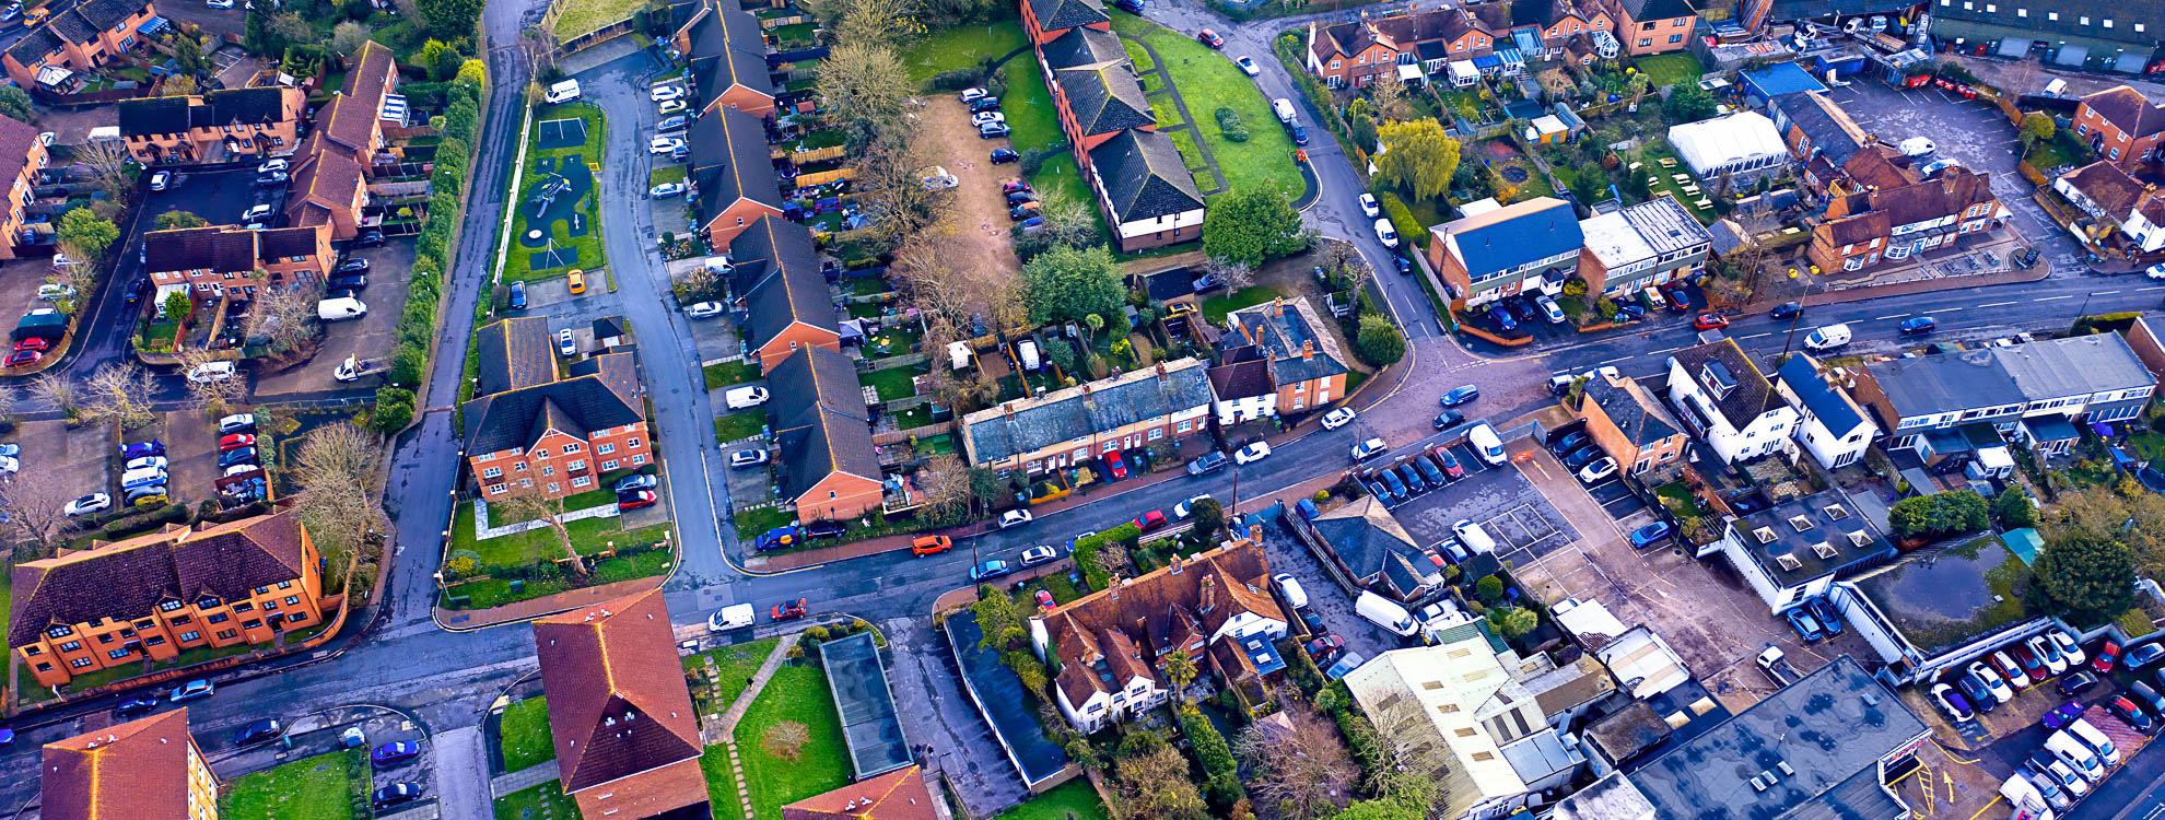
POLYGON ((976 463, 994 463, 1061 441, 1119 428, 1150 418, 1210 407, 1210 376, 1199 359, 1054 389, 1039 398, 1007 402, 963 418, 963 435, 976 463))

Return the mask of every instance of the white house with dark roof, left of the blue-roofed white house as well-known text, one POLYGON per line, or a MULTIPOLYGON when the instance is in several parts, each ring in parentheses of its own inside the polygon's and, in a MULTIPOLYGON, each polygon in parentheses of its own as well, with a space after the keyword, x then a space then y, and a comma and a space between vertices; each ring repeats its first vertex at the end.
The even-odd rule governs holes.
POLYGON ((1795 454, 1797 409, 1782 402, 1736 340, 1669 353, 1669 405, 1723 463, 1795 454))

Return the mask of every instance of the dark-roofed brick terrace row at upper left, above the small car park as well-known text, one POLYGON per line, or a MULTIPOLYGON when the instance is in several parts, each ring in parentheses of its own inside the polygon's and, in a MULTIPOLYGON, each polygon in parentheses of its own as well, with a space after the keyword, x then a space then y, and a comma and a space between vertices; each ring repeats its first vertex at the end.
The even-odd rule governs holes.
POLYGON ((232 162, 301 147, 307 93, 297 87, 221 89, 119 102, 121 141, 143 164, 232 162))

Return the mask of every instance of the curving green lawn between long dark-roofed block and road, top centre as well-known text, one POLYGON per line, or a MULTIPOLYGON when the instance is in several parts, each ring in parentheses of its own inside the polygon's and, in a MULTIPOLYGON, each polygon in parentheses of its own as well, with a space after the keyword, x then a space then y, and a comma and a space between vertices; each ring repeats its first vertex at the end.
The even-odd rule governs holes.
MULTIPOLYGON (((1210 158, 1225 173, 1228 190, 1277 188, 1286 199, 1299 197, 1301 169, 1293 164, 1293 138, 1277 125, 1271 102, 1262 97, 1256 82, 1241 74, 1232 58, 1197 43, 1195 37, 1158 26, 1154 22, 1117 15, 1113 28, 1141 37, 1165 61, 1165 71, 1173 89, 1189 104, 1189 115, 1197 119, 1210 158), (1232 108, 1247 123, 1247 143, 1228 141, 1212 115, 1219 106, 1232 108)), ((1165 125, 1165 123, 1160 123, 1165 125)), ((1321 130, 1318 123, 1305 123, 1321 130)))

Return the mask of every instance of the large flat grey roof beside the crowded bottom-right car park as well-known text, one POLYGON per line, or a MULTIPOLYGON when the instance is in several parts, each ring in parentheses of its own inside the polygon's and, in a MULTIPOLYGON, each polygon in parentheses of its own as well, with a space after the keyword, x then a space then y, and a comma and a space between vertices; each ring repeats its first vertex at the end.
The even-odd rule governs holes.
POLYGON ((1665 818, 1743 820, 1786 816, 1886 818, 1892 803, 1849 783, 1877 777, 1879 759, 1929 729, 1855 658, 1840 656, 1717 727, 1669 746, 1630 779, 1665 818), (1764 770, 1786 775, 1751 788, 1764 770))

